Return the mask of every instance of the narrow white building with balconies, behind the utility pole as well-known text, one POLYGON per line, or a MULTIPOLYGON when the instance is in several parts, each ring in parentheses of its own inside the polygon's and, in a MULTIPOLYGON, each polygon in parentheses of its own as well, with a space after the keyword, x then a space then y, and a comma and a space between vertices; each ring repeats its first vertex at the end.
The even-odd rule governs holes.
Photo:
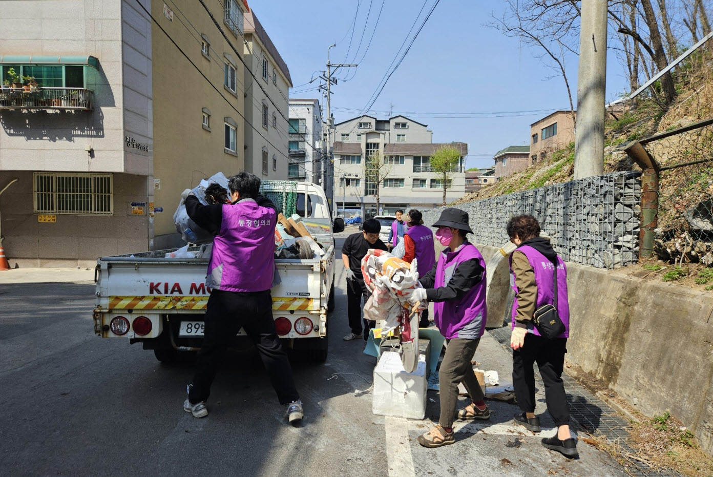
POLYGON ((317 99, 289 98, 289 180, 322 185, 322 111, 317 99))

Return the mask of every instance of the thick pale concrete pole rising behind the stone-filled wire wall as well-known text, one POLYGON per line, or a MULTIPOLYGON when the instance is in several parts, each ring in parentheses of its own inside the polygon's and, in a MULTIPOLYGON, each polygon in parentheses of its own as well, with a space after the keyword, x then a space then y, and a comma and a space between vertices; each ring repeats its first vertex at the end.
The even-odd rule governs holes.
POLYGON ((575 179, 604 172, 607 0, 582 0, 575 179))

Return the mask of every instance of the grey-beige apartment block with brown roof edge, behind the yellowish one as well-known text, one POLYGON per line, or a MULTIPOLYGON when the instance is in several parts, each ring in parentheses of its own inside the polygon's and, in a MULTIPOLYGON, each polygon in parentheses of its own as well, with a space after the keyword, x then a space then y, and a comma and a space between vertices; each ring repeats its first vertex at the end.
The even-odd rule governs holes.
POLYGON ((245 14, 245 170, 262 179, 289 175, 289 69, 255 13, 245 14), (254 125, 252 128, 250 125, 254 125))

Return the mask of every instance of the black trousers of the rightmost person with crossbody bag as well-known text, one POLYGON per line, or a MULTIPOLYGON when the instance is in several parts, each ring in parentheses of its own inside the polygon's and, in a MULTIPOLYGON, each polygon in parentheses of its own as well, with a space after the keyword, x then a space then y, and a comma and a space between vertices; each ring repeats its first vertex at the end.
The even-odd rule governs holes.
POLYGON ((570 422, 567 395, 562 382, 565 365, 567 339, 546 339, 532 333, 525 335, 525 344, 513 352, 513 386, 520 409, 535 412, 535 370, 536 362, 540 376, 545 383, 545 402, 555 426, 570 422))

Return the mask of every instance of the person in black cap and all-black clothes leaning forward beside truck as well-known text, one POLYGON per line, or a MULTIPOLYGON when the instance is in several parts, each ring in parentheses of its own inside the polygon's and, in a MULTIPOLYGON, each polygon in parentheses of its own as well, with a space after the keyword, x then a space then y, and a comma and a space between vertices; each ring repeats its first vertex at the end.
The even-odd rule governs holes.
POLYGON ((369 337, 369 329, 374 328, 374 322, 364 319, 364 332, 361 331, 361 312, 363 310, 361 297, 364 303, 369 299, 369 289, 364 284, 364 277, 361 275, 361 259, 366 256, 366 251, 370 248, 386 250, 386 244, 379 239, 381 224, 376 219, 369 219, 364 222, 361 232, 349 235, 342 245, 342 261, 347 269, 347 307, 349 311, 349 327, 352 332, 347 334, 344 341, 364 337, 364 341, 369 337))

